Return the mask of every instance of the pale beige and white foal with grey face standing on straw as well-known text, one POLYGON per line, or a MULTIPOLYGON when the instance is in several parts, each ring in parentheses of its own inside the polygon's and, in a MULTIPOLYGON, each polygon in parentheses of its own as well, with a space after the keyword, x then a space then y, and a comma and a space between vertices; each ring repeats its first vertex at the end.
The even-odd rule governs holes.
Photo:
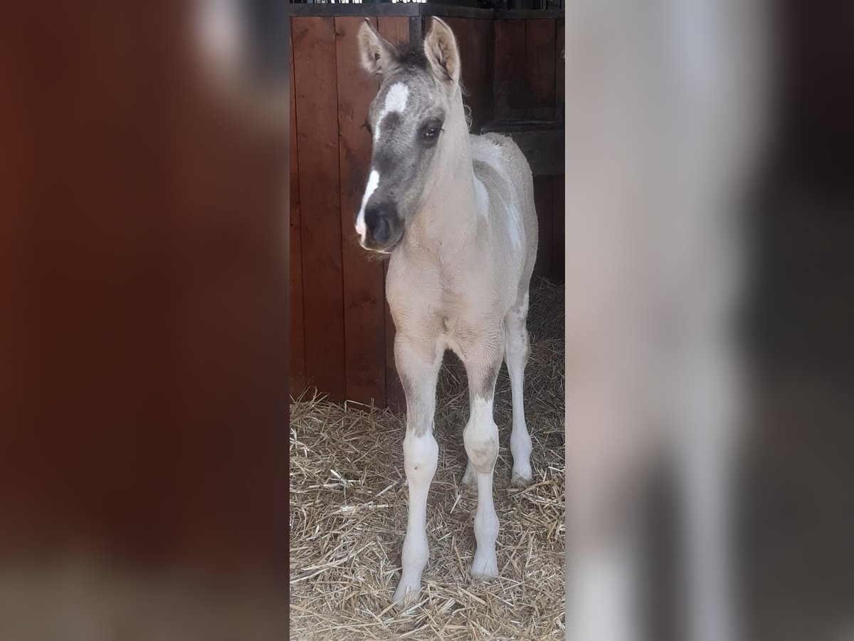
POLYGON ((429 557, 436 379, 446 349, 465 363, 471 398, 463 481, 477 484, 472 576, 498 575, 493 397, 502 357, 512 385, 512 483, 532 480, 522 388, 537 222, 531 172, 518 146, 494 134, 469 135, 459 50, 447 24, 433 19, 423 49, 395 50, 368 21, 359 41, 362 65, 381 86, 366 121, 373 155, 356 232, 365 249, 391 255, 386 293, 407 397, 409 520, 395 592, 404 604, 416 597, 429 557))

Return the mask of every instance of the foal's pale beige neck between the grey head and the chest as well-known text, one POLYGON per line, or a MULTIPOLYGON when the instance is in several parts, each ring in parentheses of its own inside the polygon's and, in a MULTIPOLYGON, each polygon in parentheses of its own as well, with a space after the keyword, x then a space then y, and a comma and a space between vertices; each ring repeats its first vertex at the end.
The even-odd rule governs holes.
POLYGON ((442 156, 424 193, 424 206, 407 235, 421 247, 465 244, 477 225, 471 144, 459 87, 442 127, 442 156))

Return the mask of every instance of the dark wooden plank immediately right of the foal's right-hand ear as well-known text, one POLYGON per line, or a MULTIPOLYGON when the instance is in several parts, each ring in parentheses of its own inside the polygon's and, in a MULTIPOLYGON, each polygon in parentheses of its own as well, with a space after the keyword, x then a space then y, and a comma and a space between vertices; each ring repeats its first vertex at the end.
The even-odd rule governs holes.
POLYGON ((459 45, 462 81, 471 107, 471 132, 492 118, 492 44, 493 22, 471 18, 446 18, 459 45))

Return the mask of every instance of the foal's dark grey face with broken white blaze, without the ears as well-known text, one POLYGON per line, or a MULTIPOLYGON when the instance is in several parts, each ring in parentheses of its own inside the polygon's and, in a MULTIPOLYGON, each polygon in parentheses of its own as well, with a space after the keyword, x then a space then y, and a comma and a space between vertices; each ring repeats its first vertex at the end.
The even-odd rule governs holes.
POLYGON ((418 212, 438 156, 447 97, 418 65, 395 67, 368 110, 371 167, 356 232, 368 250, 391 251, 418 212))

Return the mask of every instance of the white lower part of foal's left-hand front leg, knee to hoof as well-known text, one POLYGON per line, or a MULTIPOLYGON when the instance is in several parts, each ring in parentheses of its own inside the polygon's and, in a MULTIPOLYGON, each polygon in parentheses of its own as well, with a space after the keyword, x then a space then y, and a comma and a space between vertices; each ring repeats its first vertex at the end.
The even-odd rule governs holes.
POLYGON ((409 483, 409 520, 401 555, 403 574, 395 591, 395 603, 417 597, 421 572, 430 556, 427 546, 427 494, 438 459, 439 445, 431 432, 420 435, 407 432, 403 440, 403 460, 409 483))

